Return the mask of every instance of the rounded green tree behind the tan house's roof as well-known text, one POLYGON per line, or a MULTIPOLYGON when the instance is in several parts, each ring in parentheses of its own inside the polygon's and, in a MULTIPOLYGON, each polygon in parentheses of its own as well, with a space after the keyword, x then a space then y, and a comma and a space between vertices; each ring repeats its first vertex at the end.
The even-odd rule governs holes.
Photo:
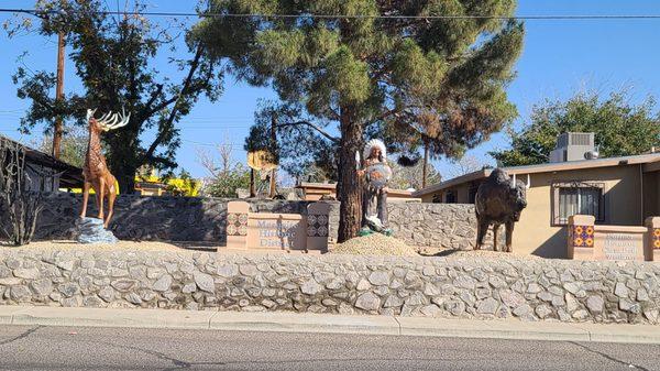
POLYGON ((534 107, 522 130, 509 130, 512 149, 491 152, 503 166, 547 163, 563 132, 594 132, 602 157, 640 154, 660 146, 660 114, 647 98, 632 105, 625 91, 602 98, 578 94, 566 101, 547 100, 534 107))

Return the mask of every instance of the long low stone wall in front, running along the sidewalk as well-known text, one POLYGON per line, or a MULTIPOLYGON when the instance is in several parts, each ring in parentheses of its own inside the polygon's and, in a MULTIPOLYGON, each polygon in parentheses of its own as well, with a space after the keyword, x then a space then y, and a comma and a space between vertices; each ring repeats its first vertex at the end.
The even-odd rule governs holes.
POLYGON ((0 305, 658 324, 660 264, 0 249, 0 305))

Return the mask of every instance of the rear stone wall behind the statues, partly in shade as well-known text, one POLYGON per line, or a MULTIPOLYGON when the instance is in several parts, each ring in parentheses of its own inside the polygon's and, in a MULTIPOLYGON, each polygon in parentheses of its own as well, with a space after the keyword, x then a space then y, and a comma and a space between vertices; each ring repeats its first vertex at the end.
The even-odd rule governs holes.
MULTIPOLYGON (((110 229, 122 240, 227 241, 224 198, 141 197, 122 195, 114 205, 110 229)), ((248 200, 252 211, 306 214, 308 201, 248 200)), ((70 239, 82 203, 79 194, 55 193, 37 225, 36 239, 70 239)), ((339 203, 330 212, 330 243, 337 240, 339 203)), ((472 249, 476 238, 474 205, 391 203, 395 236, 410 245, 472 249)), ((96 216, 94 197, 88 216, 96 216)), ((486 241, 490 241, 490 236, 486 241)))

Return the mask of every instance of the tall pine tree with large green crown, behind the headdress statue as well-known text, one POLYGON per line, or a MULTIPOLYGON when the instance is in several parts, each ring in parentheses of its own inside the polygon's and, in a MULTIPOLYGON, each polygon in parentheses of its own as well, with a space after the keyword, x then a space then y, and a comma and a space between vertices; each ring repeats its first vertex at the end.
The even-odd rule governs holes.
MULTIPOLYGON (((209 17, 194 36, 212 57, 227 58, 237 76, 275 88, 296 113, 277 117, 278 126, 306 128, 336 145, 344 241, 360 229, 355 153, 367 137, 409 152, 428 140, 452 155, 516 116, 504 88, 524 32, 520 23, 503 21, 515 4, 211 0, 216 14, 273 17, 209 17)), ((311 138, 301 144, 316 145, 311 138)))

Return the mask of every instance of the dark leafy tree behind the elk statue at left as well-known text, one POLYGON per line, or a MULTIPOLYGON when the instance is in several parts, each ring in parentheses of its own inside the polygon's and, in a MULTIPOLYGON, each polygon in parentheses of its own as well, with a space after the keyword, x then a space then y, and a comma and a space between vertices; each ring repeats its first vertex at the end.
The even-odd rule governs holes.
MULTIPOLYGON (((221 74, 212 58, 202 58, 204 46, 189 40, 188 53, 176 50, 176 40, 169 28, 150 22, 140 12, 145 10, 141 0, 131 2, 121 15, 100 0, 40 0, 38 32, 52 36, 66 33, 67 46, 76 75, 82 83, 80 96, 69 96, 61 103, 52 97, 55 78, 52 73, 29 73, 20 68, 14 76, 20 98, 32 100, 21 121, 25 132, 38 123, 52 127, 55 117, 75 117, 79 124, 87 108, 98 112, 131 113, 129 124, 103 135, 108 163, 118 178, 120 189, 133 189, 135 172, 143 165, 157 170, 176 167, 173 160, 179 146, 176 123, 190 112, 201 95, 211 100, 221 92, 221 74), (152 67, 163 50, 169 50, 172 62, 184 75, 173 80, 152 67), (154 139, 145 141, 143 133, 151 130, 154 139)), ((24 24, 24 23, 23 23, 24 24)))

